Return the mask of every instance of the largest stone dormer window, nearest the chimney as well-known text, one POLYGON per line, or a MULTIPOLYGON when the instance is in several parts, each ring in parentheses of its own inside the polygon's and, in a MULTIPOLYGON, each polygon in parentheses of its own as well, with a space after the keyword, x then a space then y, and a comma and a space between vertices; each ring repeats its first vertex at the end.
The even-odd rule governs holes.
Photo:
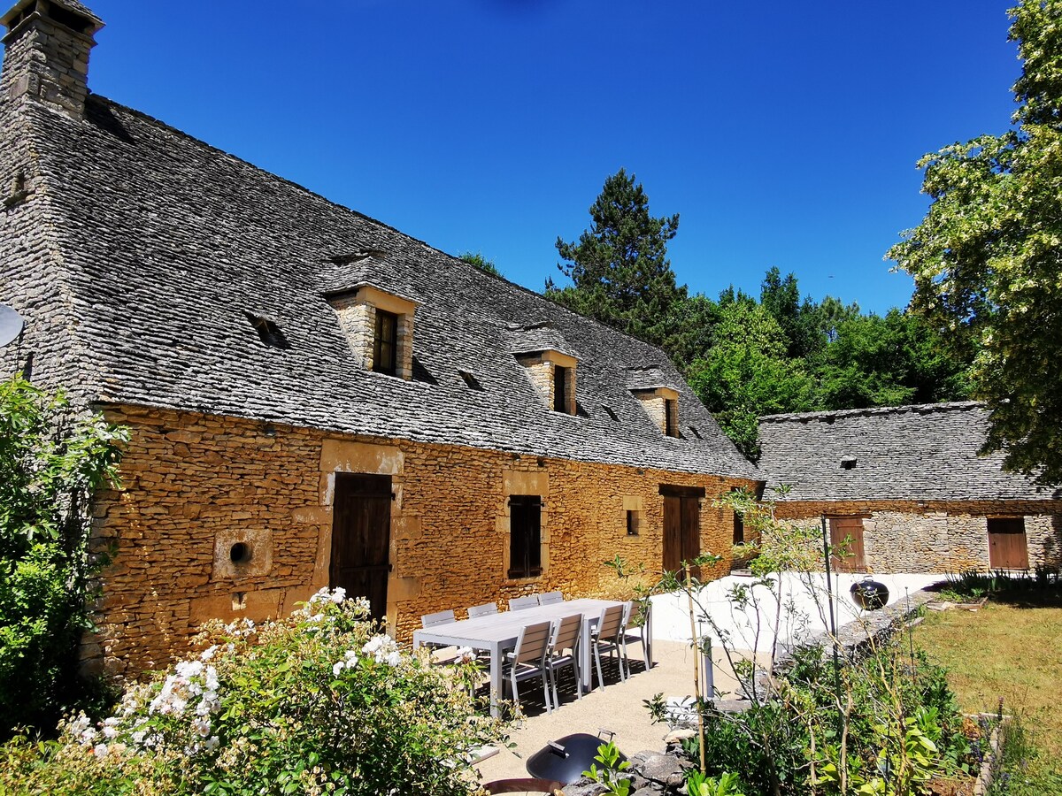
POLYGON ((327 297, 361 367, 407 381, 413 378, 416 301, 366 283, 327 297))

